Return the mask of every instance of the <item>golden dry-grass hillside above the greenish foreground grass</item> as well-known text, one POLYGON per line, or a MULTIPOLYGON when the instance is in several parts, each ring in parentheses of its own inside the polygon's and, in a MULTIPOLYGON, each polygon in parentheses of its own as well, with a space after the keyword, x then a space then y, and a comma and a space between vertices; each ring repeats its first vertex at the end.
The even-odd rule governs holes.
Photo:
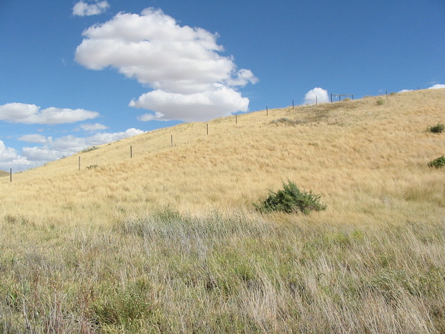
POLYGON ((426 129, 444 111, 444 89, 419 90, 159 129, 2 178, 0 216, 108 223, 167 206, 251 210, 289 179, 327 203, 313 220, 443 217, 444 170, 426 164, 445 154, 445 134, 426 129))

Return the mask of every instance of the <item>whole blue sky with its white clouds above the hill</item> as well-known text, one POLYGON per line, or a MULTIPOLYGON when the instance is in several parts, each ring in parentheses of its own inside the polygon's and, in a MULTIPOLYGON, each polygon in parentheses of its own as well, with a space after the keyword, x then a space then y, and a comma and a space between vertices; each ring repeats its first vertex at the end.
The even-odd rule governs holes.
POLYGON ((444 0, 0 0, 0 169, 330 93, 445 87, 444 0))

